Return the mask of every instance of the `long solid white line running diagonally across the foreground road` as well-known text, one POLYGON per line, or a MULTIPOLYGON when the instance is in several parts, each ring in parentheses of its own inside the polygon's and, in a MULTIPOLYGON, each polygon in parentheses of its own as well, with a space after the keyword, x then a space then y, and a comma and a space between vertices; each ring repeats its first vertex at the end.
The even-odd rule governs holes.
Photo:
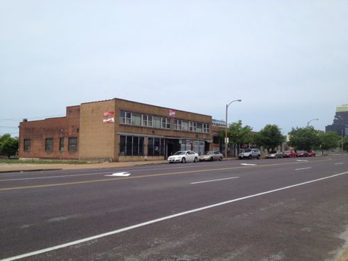
POLYGON ((328 176, 328 177, 322 177, 322 178, 319 178, 317 180, 310 180, 310 181, 302 182, 302 183, 299 183, 299 184, 294 184, 294 185, 290 185, 290 186, 287 186, 287 187, 282 187, 282 188, 279 188, 279 189, 273 189, 273 190, 270 190, 270 191, 256 193, 256 194, 253 194, 251 196, 245 196, 245 197, 242 197, 242 198, 236 198, 236 199, 228 200, 228 201, 217 203, 217 204, 214 204, 214 205, 208 205, 208 206, 200 207, 200 208, 197 208, 197 209, 191 209, 191 210, 186 211, 186 212, 181 212, 181 213, 173 214, 173 215, 170 215, 170 216, 164 216, 164 217, 161 217, 159 219, 150 220, 150 221, 147 221, 147 222, 144 222, 144 223, 139 223, 139 224, 136 224, 134 226, 129 226, 129 227, 126 227, 126 228, 120 228, 118 230, 113 230, 113 231, 106 232, 106 233, 103 233, 103 234, 100 234, 100 235, 95 235, 95 236, 92 236, 92 237, 86 237, 84 239, 79 239, 79 240, 68 242, 68 243, 65 243, 65 244, 58 245, 58 246, 52 246, 52 247, 49 247, 49 248, 44 248, 44 249, 41 249, 41 250, 38 250, 38 251, 33 251, 33 252, 25 253, 25 254, 22 254, 22 255, 16 255, 16 256, 14 256, 12 258, 5 258, 5 259, 2 259, 0 261, 17 260, 17 259, 20 259, 20 258, 27 258, 27 257, 33 256, 33 255, 39 255, 39 254, 46 253, 46 252, 49 252, 49 251, 57 250, 59 248, 65 248, 65 247, 68 247, 68 246, 74 246, 74 245, 81 244, 81 243, 84 243, 84 242, 88 242, 88 241, 91 241, 91 240, 99 239, 101 237, 108 237, 110 235, 115 235, 115 234, 118 234, 120 232, 125 232, 127 230, 132 230, 132 229, 135 229, 135 228, 141 228, 143 226, 148 226, 150 224, 161 222, 161 221, 165 221, 165 220, 168 220, 168 219, 174 219, 177 216, 184 216, 184 215, 187 215, 187 214, 191 214, 193 212, 199 212, 199 211, 203 211, 205 209, 210 209, 210 208, 213 208, 213 207, 219 207, 221 205, 234 203, 234 202, 239 201, 239 200, 245 200, 245 199, 248 199, 248 198, 255 198, 255 197, 258 197, 258 196, 265 195, 265 194, 274 193, 274 192, 285 190, 285 189, 291 189, 293 187, 299 187, 299 186, 303 186, 305 184, 310 184, 310 183, 313 183, 313 182, 318 182, 318 181, 321 181, 321 180, 326 180, 326 179, 329 179, 329 178, 332 178, 332 177, 338 177, 340 175, 345 175, 345 174, 348 174, 348 171, 347 172, 343 172, 343 173, 338 173, 338 174, 335 174, 335 175, 331 175, 331 176, 328 176))

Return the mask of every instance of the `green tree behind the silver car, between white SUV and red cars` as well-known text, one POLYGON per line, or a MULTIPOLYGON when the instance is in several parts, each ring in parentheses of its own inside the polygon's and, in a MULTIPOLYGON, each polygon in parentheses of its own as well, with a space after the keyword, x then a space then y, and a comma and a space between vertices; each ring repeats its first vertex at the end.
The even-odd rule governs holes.
POLYGON ((267 150, 274 150, 285 141, 285 137, 281 134, 277 125, 269 124, 255 134, 254 141, 258 146, 262 146, 267 150))

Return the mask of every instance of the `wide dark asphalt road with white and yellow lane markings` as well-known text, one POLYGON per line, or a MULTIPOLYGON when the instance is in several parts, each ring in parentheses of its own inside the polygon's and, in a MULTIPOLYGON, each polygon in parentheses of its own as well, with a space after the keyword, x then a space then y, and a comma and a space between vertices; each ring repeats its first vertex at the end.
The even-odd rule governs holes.
POLYGON ((348 157, 0 173, 0 207, 0 260, 347 260, 348 157))

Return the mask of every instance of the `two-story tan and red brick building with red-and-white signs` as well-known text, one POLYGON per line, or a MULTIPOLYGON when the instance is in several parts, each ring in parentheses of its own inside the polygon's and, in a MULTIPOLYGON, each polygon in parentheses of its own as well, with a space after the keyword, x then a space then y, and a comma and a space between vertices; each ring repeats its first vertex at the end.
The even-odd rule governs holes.
POLYGON ((23 120, 19 158, 166 159, 177 150, 219 148, 219 130, 211 116, 115 98, 68 106, 62 118, 23 120))

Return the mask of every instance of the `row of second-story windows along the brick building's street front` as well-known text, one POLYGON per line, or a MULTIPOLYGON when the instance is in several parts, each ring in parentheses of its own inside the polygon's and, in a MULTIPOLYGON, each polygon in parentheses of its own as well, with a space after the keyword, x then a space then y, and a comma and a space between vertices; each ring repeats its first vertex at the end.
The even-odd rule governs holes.
MULTIPOLYGON (((127 111, 120 112, 120 124, 171 129, 171 119, 127 111)), ((186 132, 209 133, 209 124, 174 119, 174 129, 186 132)))

